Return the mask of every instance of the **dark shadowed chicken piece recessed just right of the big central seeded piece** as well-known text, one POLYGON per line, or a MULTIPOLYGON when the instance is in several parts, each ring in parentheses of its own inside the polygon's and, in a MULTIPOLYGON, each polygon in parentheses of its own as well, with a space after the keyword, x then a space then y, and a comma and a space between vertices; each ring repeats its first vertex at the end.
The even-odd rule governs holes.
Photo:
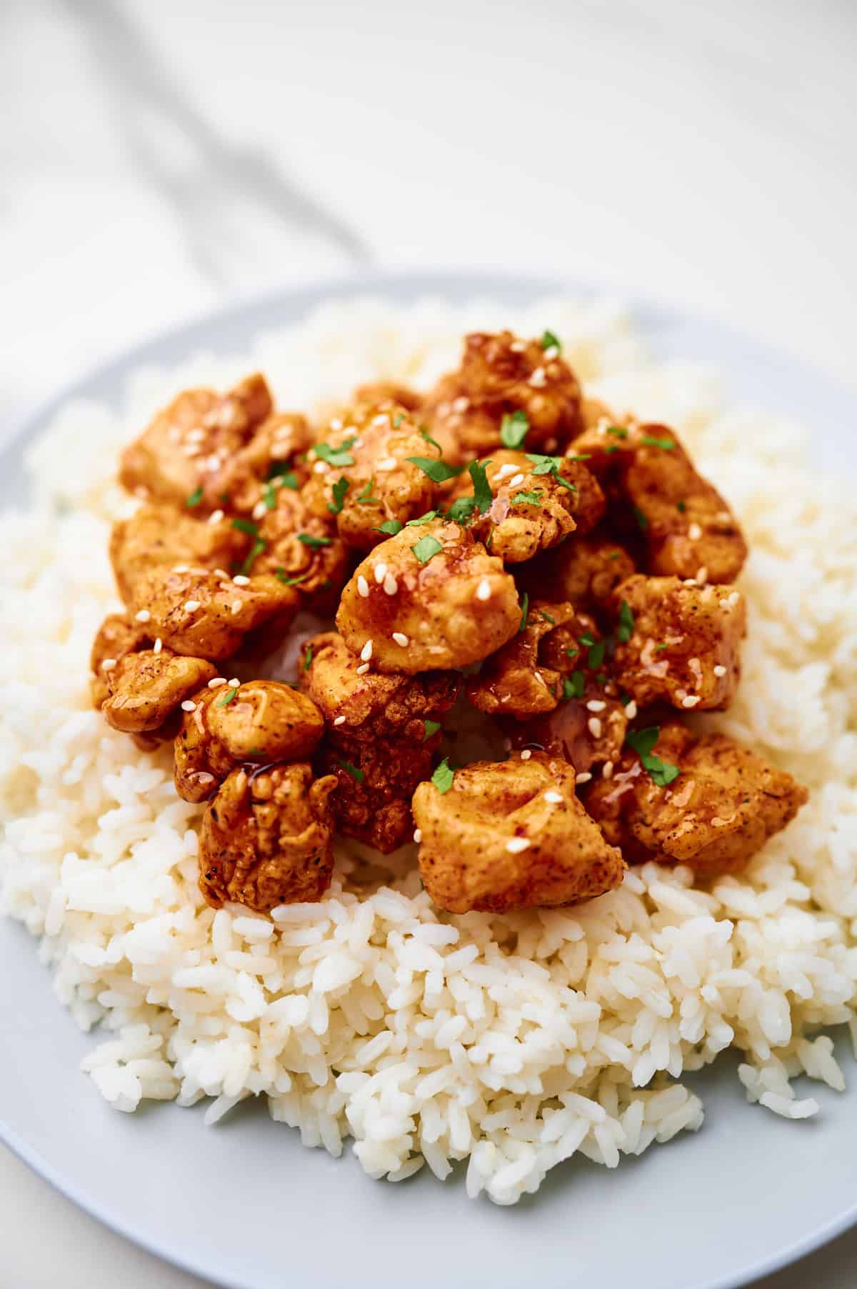
POLYGON ((531 597, 567 599, 593 610, 634 571, 628 550, 599 527, 585 538, 575 534, 571 541, 539 556, 522 570, 522 584, 531 597))

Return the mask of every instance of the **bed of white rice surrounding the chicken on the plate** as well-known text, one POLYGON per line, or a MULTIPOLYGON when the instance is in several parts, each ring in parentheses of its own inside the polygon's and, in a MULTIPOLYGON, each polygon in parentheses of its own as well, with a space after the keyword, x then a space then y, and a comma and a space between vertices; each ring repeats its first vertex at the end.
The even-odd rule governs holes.
POLYGON ((214 1098, 210 1123, 264 1093, 307 1146, 338 1155, 352 1137, 372 1177, 469 1159, 468 1194, 500 1204, 576 1151, 612 1168, 698 1128, 682 1074, 729 1047, 753 1101, 814 1114, 790 1080, 843 1088, 820 1031, 848 1022, 857 1039, 857 513, 805 461, 794 427, 724 407, 705 373, 653 366, 620 308, 559 299, 327 307, 232 360, 137 373, 121 414, 67 406, 30 450, 36 510, 0 521, 3 900, 75 1021, 99 1025, 84 1069, 102 1096, 126 1111, 214 1098), (372 888, 343 853, 318 905, 215 913, 170 750, 139 753, 89 706, 90 641, 117 607, 116 451, 187 384, 260 366, 284 406, 318 407, 374 375, 425 387, 463 331, 501 325, 554 330, 588 389, 675 425, 737 509, 744 679, 708 721, 796 775, 809 804, 705 891, 650 864, 583 907, 450 916, 412 853, 372 888))

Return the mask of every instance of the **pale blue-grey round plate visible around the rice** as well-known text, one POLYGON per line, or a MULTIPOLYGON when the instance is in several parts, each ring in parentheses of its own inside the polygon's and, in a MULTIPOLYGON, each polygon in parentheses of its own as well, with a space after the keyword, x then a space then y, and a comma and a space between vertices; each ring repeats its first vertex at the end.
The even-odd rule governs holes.
MULTIPOLYGON (((521 278, 371 276, 211 315, 45 407, 0 454, 0 498, 21 496, 22 450, 70 394, 116 401, 140 363, 178 363, 198 348, 241 351, 251 334, 298 321, 321 300, 366 291, 519 304, 561 289, 589 294, 521 278)), ((818 463, 854 467, 852 394, 719 325, 661 307, 634 312, 657 357, 711 361, 736 396, 811 423, 818 463)), ((348 1154, 336 1161, 304 1150, 258 1103, 245 1102, 215 1129, 204 1128, 201 1109, 159 1103, 116 1114, 77 1071, 91 1038, 59 1007, 34 942, 5 919, 0 980, 0 1136, 115 1230, 231 1289, 518 1289, 530 1279, 539 1289, 727 1289, 857 1222, 853 1092, 813 1084, 821 1115, 787 1123, 747 1105, 731 1056, 691 1080, 706 1107, 697 1134, 624 1160, 617 1172, 570 1161, 537 1196, 500 1209, 469 1203, 460 1174, 459 1185, 428 1170, 398 1186, 372 1182, 348 1154)), ((839 1054, 853 1083, 853 1061, 839 1054)))

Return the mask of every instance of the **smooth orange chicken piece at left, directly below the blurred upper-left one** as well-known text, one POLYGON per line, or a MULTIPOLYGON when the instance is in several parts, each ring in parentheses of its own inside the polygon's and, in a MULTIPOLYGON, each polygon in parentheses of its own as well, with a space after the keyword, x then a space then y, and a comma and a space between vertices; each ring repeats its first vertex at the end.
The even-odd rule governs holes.
POLYGON ((152 501, 113 525, 110 561, 119 593, 130 603, 134 583, 157 566, 193 565, 237 571, 250 549, 250 536, 227 518, 197 517, 187 508, 152 501), (214 522, 211 522, 214 519, 214 522))

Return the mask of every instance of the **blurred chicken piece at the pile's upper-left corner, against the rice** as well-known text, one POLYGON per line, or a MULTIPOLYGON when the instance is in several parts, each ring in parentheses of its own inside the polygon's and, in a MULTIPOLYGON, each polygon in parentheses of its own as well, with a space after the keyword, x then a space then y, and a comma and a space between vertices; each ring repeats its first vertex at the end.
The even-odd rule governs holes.
POLYGON ((186 389, 125 449, 119 478, 137 496, 174 505, 196 498, 202 510, 228 501, 223 469, 271 414, 271 391, 258 373, 227 394, 186 389))

